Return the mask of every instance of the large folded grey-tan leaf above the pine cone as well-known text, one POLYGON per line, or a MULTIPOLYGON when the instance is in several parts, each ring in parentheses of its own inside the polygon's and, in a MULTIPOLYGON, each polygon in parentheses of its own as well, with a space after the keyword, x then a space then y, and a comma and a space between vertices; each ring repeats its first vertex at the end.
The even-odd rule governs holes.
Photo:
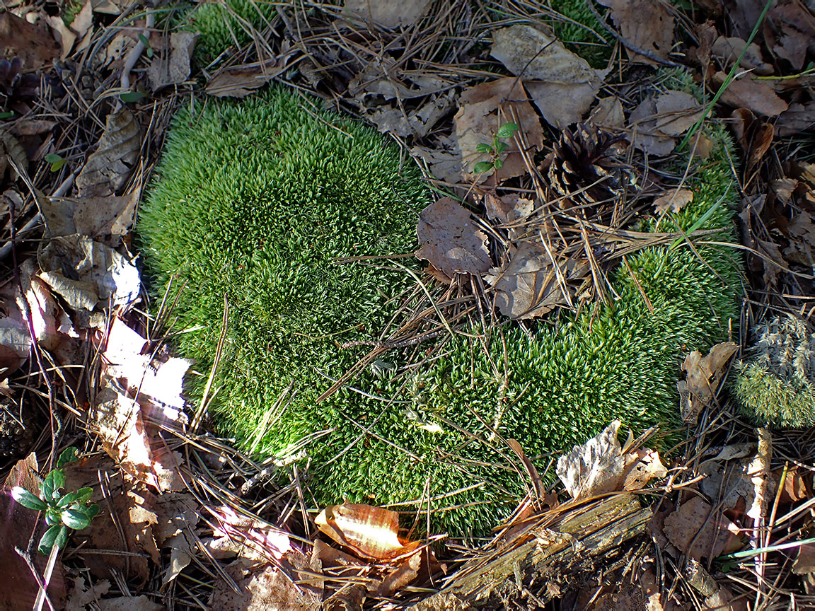
POLYGON ((522 77, 546 122, 561 129, 582 121, 605 76, 557 38, 531 25, 497 30, 490 54, 522 77))

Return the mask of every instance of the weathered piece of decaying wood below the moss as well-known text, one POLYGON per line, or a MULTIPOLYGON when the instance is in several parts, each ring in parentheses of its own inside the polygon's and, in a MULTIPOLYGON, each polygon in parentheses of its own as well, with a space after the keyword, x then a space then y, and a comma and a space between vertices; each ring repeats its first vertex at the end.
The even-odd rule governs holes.
POLYGON ((535 527, 522 543, 508 543, 486 560, 471 560, 443 590, 411 609, 496 609, 509 599, 545 603, 560 595, 566 579, 574 584, 594 560, 607 560, 608 552, 643 534, 650 518, 650 509, 642 508, 635 495, 581 504, 535 527))

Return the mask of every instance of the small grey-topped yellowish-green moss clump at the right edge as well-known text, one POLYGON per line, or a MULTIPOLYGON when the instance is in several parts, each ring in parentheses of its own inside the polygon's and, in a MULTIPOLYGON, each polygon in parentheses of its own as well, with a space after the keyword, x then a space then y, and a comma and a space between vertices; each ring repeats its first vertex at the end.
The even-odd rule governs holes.
POLYGON ((736 366, 742 411, 757 424, 815 426, 815 333, 794 316, 753 329, 755 343, 736 366))

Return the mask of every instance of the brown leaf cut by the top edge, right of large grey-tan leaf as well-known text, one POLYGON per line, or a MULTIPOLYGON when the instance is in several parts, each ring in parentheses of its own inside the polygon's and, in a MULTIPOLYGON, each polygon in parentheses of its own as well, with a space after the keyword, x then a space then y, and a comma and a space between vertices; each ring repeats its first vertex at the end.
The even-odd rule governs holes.
MULTIPOLYGON (((620 35, 627 42, 649 51, 657 57, 668 59, 673 45, 674 19, 663 2, 659 0, 599 0, 604 7, 611 9, 620 35)), ((628 51, 632 61, 656 65, 654 59, 628 51)))

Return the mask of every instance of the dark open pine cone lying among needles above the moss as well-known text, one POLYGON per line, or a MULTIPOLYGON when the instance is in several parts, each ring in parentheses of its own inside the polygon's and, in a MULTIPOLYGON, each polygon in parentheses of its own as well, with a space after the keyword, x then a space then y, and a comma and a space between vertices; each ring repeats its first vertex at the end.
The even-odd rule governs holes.
MULTIPOLYGON (((566 198, 560 203, 562 209, 606 201, 613 205, 611 200, 622 192, 621 164, 610 147, 622 139, 623 136, 613 136, 582 123, 574 133, 563 131, 560 141, 554 144, 555 154, 548 173, 554 191, 566 198)), ((587 213, 587 217, 591 216, 594 215, 587 213)))

